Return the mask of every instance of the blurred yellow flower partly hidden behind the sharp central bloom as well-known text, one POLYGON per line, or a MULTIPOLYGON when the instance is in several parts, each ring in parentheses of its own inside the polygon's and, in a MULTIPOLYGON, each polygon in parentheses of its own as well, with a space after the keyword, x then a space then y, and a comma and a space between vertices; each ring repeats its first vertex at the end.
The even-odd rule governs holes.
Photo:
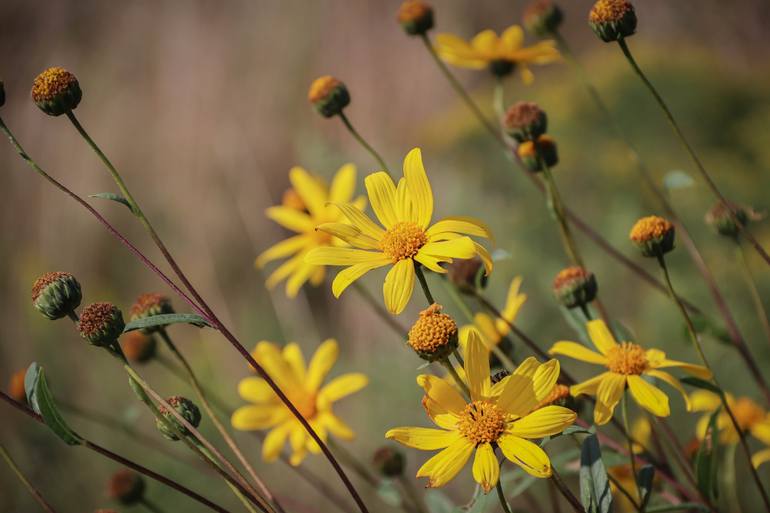
MULTIPOLYGON (((339 209, 329 203, 353 201, 356 188, 356 168, 353 164, 342 166, 332 180, 331 186, 308 173, 301 167, 289 171, 292 189, 284 194, 283 204, 267 209, 267 217, 297 235, 289 237, 257 257, 255 262, 262 268, 268 262, 288 258, 267 278, 267 286, 275 287, 286 280, 286 295, 295 297, 308 280, 318 286, 325 276, 323 266, 305 262, 305 255, 313 249, 326 246, 345 246, 342 241, 315 228, 319 224, 343 222, 339 209), (299 208, 298 208, 299 207, 299 208)), ((356 198, 352 207, 362 210, 366 202, 356 198)))

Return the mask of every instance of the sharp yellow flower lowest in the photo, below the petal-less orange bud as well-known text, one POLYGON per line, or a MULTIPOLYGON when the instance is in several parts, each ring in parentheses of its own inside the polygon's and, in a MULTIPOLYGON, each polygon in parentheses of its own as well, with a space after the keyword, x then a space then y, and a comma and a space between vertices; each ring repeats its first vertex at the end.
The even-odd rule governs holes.
POLYGON ((549 477, 548 455, 529 440, 561 433, 575 421, 575 412, 561 406, 538 409, 556 384, 559 362, 540 364, 535 358, 528 358, 513 374, 492 385, 489 352, 474 330, 465 352, 464 374, 470 402, 453 381, 431 375, 417 378, 425 390, 423 406, 439 429, 400 427, 385 434, 407 447, 441 449, 420 467, 417 477, 427 477, 430 488, 443 486, 475 453, 473 479, 489 492, 500 477, 496 447, 529 474, 549 477))

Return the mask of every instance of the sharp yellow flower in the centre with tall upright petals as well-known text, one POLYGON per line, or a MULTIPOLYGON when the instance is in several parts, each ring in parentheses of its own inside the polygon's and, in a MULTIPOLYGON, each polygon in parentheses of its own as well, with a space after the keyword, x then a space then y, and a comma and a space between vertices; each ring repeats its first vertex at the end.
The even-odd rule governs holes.
POLYGON ((339 237, 353 247, 317 247, 305 259, 311 265, 346 266, 332 283, 335 297, 372 269, 391 266, 383 294, 388 310, 398 314, 412 297, 415 265, 445 273, 441 263, 478 255, 484 261, 487 274, 492 270, 487 250, 465 236, 489 238, 489 230, 480 221, 447 217, 431 226, 433 191, 419 148, 404 158, 404 177, 398 185, 384 171, 367 176, 365 184, 369 202, 382 227, 352 205, 335 203, 350 224, 329 222, 319 225, 318 230, 339 237))

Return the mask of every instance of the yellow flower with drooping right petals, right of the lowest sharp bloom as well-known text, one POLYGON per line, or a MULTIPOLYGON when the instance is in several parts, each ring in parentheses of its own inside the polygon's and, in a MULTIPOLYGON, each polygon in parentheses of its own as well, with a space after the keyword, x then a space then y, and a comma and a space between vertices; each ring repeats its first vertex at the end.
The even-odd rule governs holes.
POLYGON ((596 396, 596 424, 606 424, 610 421, 626 387, 639 406, 658 417, 668 417, 671 413, 668 396, 642 375, 657 378, 677 389, 684 397, 688 411, 691 405, 682 385, 674 376, 661 369, 679 367, 699 378, 711 378, 711 372, 705 367, 669 360, 666 353, 659 349, 645 350, 633 342, 616 342, 604 321, 589 321, 586 328, 591 342, 599 350, 598 353, 577 342, 567 341, 556 342, 549 352, 607 367, 606 372, 571 388, 574 396, 596 396))

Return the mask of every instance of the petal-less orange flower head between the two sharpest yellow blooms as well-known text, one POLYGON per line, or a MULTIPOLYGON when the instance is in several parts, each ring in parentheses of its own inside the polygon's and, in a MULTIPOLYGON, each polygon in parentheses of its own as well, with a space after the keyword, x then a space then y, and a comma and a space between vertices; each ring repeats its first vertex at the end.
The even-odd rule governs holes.
POLYGON ((457 323, 441 313, 441 308, 436 303, 430 305, 409 328, 409 347, 429 362, 445 358, 457 348, 457 323))

